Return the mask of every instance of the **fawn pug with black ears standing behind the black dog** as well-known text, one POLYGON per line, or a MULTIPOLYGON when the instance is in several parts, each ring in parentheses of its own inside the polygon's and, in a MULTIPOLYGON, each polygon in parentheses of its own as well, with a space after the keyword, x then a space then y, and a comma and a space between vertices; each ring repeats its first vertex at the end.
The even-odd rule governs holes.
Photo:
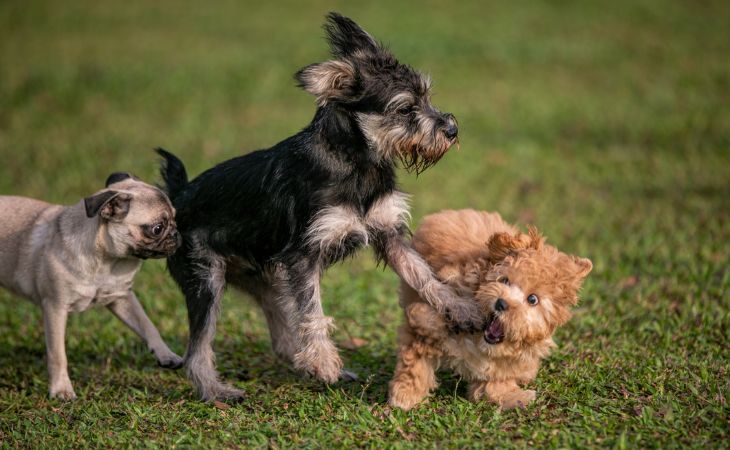
POLYGON ((113 173, 105 189, 71 206, 0 196, 0 286, 43 310, 51 397, 76 397, 66 318, 95 305, 144 339, 160 366, 182 365, 132 292, 141 260, 167 257, 180 243, 170 200, 128 173, 113 173))

